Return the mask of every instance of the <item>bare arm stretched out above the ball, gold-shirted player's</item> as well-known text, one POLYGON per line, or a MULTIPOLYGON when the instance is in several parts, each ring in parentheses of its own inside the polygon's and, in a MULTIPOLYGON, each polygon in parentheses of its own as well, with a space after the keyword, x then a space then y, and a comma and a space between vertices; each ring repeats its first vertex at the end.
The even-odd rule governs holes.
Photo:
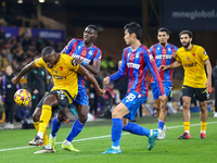
POLYGON ((20 79, 25 75, 27 74, 30 70, 33 68, 37 68, 36 64, 35 64, 35 61, 30 62, 29 64, 27 64, 20 73, 16 77, 13 77, 12 78, 12 83, 14 85, 18 84, 20 79))

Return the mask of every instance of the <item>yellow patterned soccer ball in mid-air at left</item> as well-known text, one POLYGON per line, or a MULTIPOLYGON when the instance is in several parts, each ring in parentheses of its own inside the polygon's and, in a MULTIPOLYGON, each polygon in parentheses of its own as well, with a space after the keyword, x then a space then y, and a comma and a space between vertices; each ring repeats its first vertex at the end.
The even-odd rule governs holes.
POLYGON ((18 105, 27 105, 31 100, 31 96, 30 92, 26 89, 18 89, 15 93, 14 93, 14 101, 18 104, 18 105))

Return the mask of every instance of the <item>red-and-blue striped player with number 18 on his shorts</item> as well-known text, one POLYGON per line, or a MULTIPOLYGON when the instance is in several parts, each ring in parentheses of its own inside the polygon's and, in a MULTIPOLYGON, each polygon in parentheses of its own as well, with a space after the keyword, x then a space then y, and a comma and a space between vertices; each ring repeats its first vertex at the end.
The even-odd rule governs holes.
POLYGON ((112 113, 112 147, 103 152, 103 154, 116 154, 122 153, 119 143, 122 130, 129 131, 131 134, 149 137, 148 150, 154 147, 157 130, 148 129, 141 127, 135 123, 129 123, 129 120, 133 120, 139 106, 145 102, 148 97, 148 68, 154 76, 157 83, 157 89, 159 91, 159 99, 165 100, 164 87, 155 64, 155 61, 149 51, 149 49, 141 45, 140 38, 142 35, 142 28, 139 24, 132 22, 125 27, 125 41, 128 48, 123 51, 123 63, 119 70, 103 79, 104 84, 116 80, 128 73, 128 91, 122 102, 114 109, 112 113))

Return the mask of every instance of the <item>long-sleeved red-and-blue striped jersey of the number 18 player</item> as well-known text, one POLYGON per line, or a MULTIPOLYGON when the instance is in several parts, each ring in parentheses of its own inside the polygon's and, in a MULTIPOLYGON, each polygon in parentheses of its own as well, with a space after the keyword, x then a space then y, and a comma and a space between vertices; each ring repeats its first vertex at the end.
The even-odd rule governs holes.
POLYGON ((159 93, 164 95, 164 87, 156 67, 156 63, 150 50, 141 45, 136 51, 131 47, 124 49, 123 63, 119 70, 110 76, 111 82, 116 80, 128 73, 128 90, 137 91, 148 97, 148 73, 151 71, 155 82, 158 84, 159 93))

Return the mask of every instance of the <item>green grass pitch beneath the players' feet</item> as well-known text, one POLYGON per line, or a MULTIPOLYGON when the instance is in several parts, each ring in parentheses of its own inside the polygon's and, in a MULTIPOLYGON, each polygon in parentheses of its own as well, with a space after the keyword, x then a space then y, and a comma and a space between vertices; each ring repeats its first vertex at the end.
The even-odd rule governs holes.
MULTIPOLYGON (((146 128, 157 128, 156 117, 137 117, 136 123, 146 128)), ((183 133, 182 115, 167 116, 168 130, 164 140, 157 140, 155 147, 148 151, 148 138, 123 133, 122 154, 100 154, 108 149, 112 121, 88 122, 82 131, 73 141, 80 152, 61 149, 73 124, 63 124, 58 133, 58 152, 34 154, 41 147, 29 147, 28 141, 35 129, 0 130, 0 163, 215 163, 217 162, 217 118, 209 113, 207 138, 199 139, 200 114, 192 114, 191 139, 179 140, 183 133)), ((50 133, 50 128, 48 128, 50 133)))

